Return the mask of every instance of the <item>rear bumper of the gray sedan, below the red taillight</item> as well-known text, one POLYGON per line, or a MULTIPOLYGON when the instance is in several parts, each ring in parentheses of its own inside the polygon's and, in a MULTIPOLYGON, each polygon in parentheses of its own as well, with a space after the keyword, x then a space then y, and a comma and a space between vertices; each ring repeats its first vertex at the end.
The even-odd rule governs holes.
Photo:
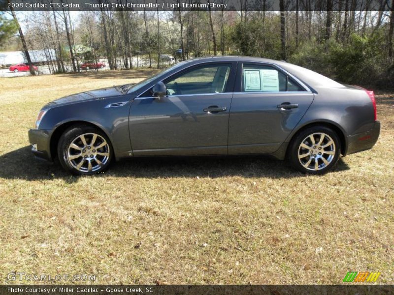
POLYGON ((345 155, 371 149, 378 141, 380 135, 380 122, 375 121, 373 128, 348 137, 348 148, 345 155))

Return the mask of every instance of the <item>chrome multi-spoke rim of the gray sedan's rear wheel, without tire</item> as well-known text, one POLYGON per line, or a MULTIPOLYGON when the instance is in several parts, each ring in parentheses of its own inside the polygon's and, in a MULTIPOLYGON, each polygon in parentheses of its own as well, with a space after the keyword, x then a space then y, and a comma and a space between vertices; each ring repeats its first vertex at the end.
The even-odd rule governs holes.
POLYGON ((322 170, 333 160, 335 143, 326 133, 307 136, 298 147, 298 160, 308 170, 322 170))

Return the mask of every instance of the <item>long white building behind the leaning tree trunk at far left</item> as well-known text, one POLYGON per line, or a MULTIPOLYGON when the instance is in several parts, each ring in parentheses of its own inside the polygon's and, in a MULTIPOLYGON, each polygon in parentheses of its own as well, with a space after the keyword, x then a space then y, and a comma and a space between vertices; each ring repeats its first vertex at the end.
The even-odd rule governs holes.
MULTIPOLYGON (((55 51, 53 49, 29 50, 29 54, 33 63, 56 60, 55 51)), ((0 52, 0 65, 9 66, 26 62, 27 60, 22 51, 0 52)))

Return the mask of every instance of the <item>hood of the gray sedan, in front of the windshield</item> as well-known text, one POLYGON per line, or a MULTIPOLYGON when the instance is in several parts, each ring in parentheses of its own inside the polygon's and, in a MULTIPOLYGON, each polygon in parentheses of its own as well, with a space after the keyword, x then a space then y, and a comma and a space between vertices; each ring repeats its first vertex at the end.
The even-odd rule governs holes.
POLYGON ((69 103, 76 103, 76 102, 81 102, 81 101, 87 101, 87 100, 95 100, 98 98, 110 98, 118 95, 123 95, 121 91, 119 91, 119 88, 116 86, 109 87, 109 88, 102 88, 102 89, 96 89, 96 90, 90 90, 90 91, 84 91, 80 93, 75 93, 71 94, 59 99, 56 99, 54 101, 51 101, 45 107, 52 107, 55 105, 61 105, 61 104, 69 104, 69 103))

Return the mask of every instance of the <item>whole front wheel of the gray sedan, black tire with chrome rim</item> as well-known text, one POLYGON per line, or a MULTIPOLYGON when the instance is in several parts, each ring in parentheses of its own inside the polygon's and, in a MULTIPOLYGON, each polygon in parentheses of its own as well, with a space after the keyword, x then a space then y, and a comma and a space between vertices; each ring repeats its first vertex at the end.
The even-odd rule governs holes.
POLYGON ((113 157, 114 157, 114 151, 108 137, 105 135, 104 132, 93 126, 74 125, 66 129, 66 131, 60 137, 58 144, 59 162, 66 171, 72 174, 93 175, 93 174, 102 173, 109 167, 113 157), (94 135, 97 136, 95 138, 95 143, 93 143, 92 145, 94 135), (79 149, 72 148, 70 147, 70 145, 72 143, 76 143, 76 140, 81 136, 83 136, 85 142, 87 143, 87 145, 85 146, 86 148, 83 148, 84 144, 82 143, 81 140, 80 143, 77 144, 77 146, 80 147, 81 156, 75 159, 71 159, 72 156, 79 155, 79 149), (99 147, 100 144, 104 144, 104 141, 105 141, 105 146, 101 148, 97 148, 96 150, 95 147, 99 147), (70 154, 71 151, 73 152, 72 155, 70 154), (93 152, 95 152, 95 154, 93 152), (105 156, 102 156, 101 154, 103 155, 105 154, 105 156), (81 161, 83 162, 83 164, 79 169, 77 169, 78 167, 77 164, 80 163, 81 161), (93 165, 95 166, 93 167, 92 170, 93 165))

